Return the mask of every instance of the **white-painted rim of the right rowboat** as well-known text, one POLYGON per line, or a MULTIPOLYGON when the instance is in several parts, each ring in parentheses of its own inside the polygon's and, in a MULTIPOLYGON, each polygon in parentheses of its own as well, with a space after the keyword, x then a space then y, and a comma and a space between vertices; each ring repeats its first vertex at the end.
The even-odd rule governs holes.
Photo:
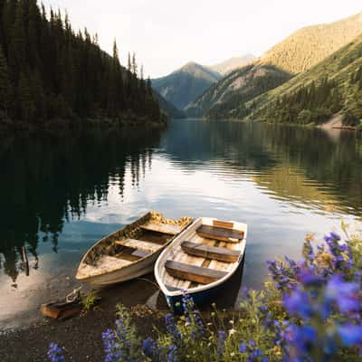
POLYGON ((240 244, 241 244, 240 256, 239 256, 239 259, 237 262, 233 262, 233 264, 234 264, 233 269, 231 271, 227 271, 227 275, 225 275, 224 278, 219 279, 218 281, 214 281, 212 283, 205 284, 205 285, 199 285, 194 288, 189 288, 186 291, 181 290, 181 289, 178 291, 169 291, 167 289, 167 286, 164 282, 164 278, 161 277, 161 271, 163 269, 165 269, 165 263, 167 262, 168 252, 170 252, 172 249, 176 248, 181 243, 183 243, 184 234, 188 233, 191 229, 194 229, 196 231, 196 228, 199 226, 199 224, 203 224, 204 221, 213 222, 214 220, 217 221, 218 219, 215 219, 212 217, 199 217, 198 219, 195 220, 195 222, 193 224, 191 224, 189 227, 187 227, 182 233, 179 233, 176 236, 176 238, 174 239, 174 241, 172 243, 170 243, 167 246, 167 248, 159 255, 157 262, 155 264, 155 277, 156 277, 156 281, 157 281, 161 291, 165 294, 165 296, 172 298, 172 297, 182 296, 185 293, 191 295, 191 294, 195 294, 197 292, 214 289, 215 287, 217 287, 221 284, 224 284, 225 281, 228 281, 230 278, 232 278, 233 274, 239 269, 241 263, 243 262, 243 258, 244 258, 244 254, 245 254, 246 236, 247 236, 247 232, 248 232, 248 226, 247 226, 247 224, 232 221, 231 223, 233 223, 233 228, 235 228, 235 226, 237 227, 237 229, 235 229, 235 230, 239 230, 239 227, 241 227, 242 230, 240 230, 240 231, 244 232, 243 240, 240 242, 240 244))

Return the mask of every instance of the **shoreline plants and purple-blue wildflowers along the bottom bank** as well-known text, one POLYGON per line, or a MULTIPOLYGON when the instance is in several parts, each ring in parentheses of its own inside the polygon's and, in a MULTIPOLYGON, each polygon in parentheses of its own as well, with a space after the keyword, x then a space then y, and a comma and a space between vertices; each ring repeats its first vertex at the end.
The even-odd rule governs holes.
POLYGON ((213 306, 214 311, 200 313, 187 296, 181 316, 118 305, 115 324, 112 311, 95 310, 63 324, 7 333, 0 347, 7 361, 19 360, 26 347, 28 360, 52 362, 357 362, 362 352, 361 235, 348 234, 343 223, 342 229, 345 240, 330 233, 318 243, 307 235, 300 262, 288 257, 268 262, 270 280, 262 291, 243 291, 239 311, 213 306), (32 338, 32 331, 43 338, 32 338))

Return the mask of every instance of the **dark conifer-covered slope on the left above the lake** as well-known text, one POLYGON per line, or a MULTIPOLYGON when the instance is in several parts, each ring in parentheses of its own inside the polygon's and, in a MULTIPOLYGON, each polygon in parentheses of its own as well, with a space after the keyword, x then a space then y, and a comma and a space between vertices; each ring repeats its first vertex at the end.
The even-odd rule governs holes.
POLYGON ((75 33, 67 14, 47 14, 36 0, 0 0, 0 123, 126 117, 163 118, 135 55, 126 69, 116 42, 112 56, 101 51, 98 36, 75 33))

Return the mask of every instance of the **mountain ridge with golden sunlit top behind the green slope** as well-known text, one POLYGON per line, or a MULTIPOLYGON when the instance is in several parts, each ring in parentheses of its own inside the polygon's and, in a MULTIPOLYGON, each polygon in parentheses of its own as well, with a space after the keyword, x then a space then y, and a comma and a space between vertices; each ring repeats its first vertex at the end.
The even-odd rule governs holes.
POLYGON ((186 113, 197 117, 237 117, 244 113, 245 101, 252 100, 290 80, 295 74, 310 69, 360 33, 362 14, 332 24, 309 26, 292 33, 252 64, 231 72, 206 90, 188 105, 186 113), (273 71, 266 71, 266 66, 272 66, 273 71), (248 74, 249 71, 251 74, 248 74))

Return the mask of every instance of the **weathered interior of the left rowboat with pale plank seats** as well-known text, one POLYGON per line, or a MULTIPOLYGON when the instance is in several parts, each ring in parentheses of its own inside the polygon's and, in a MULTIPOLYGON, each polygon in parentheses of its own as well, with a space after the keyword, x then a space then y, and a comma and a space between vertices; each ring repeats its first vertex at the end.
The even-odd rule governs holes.
POLYGON ((192 218, 172 220, 149 213, 93 246, 81 263, 78 276, 88 278, 119 270, 160 252, 192 221, 192 218))

